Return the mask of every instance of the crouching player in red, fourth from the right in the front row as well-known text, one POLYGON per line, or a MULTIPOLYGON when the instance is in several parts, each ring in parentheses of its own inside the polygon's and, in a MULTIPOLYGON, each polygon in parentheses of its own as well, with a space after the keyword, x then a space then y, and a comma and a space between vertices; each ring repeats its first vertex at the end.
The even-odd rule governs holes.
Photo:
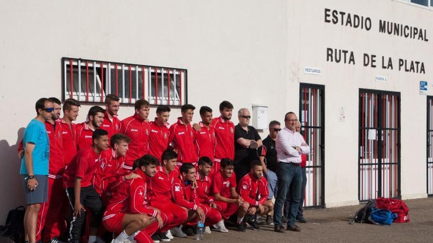
MULTIPOLYGON (((197 223, 197 218, 204 222, 205 226, 210 226, 218 223, 221 220, 221 215, 215 209, 212 209, 209 201, 203 198, 198 198, 196 189, 193 189, 192 183, 196 180, 195 167, 192 163, 184 163, 181 166, 182 179, 177 177, 171 187, 173 201, 186 209, 188 209, 188 221, 184 224, 183 230, 186 235, 194 235, 193 226, 197 223)), ((212 204, 215 204, 212 202, 212 204)))

